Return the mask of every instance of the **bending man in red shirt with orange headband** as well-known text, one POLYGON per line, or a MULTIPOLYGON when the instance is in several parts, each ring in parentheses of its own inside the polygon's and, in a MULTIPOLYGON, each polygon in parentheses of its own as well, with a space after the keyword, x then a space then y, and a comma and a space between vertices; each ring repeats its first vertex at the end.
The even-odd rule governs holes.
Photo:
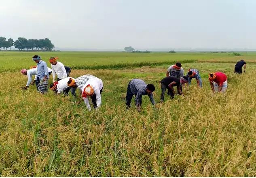
POLYGON ((218 91, 224 93, 228 86, 226 74, 222 72, 209 74, 209 82, 213 92, 218 91))

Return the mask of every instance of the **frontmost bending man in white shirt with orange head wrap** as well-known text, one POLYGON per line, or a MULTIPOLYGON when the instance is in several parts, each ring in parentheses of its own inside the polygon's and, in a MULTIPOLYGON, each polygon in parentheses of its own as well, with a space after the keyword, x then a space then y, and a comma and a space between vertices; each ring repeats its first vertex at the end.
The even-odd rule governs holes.
MULTIPOLYGON (((74 79, 70 79, 70 80, 72 81, 71 83, 74 83, 74 79)), ((91 106, 88 99, 88 97, 91 96, 93 108, 94 109, 99 108, 102 104, 102 99, 101 99, 102 89, 103 89, 103 82, 101 79, 98 79, 98 78, 89 79, 82 88, 83 99, 78 101, 77 104, 80 104, 80 102, 84 100, 88 110, 91 111, 91 106)))

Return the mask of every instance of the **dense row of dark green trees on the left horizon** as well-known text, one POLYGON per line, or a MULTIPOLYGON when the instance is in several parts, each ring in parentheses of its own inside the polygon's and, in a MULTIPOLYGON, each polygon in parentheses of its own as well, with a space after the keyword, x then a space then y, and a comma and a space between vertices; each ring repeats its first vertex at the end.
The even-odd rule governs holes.
POLYGON ((49 38, 45 39, 26 39, 24 37, 19 37, 16 41, 12 38, 6 40, 5 37, 0 37, 0 49, 2 50, 15 46, 19 50, 40 50, 40 51, 51 51, 55 46, 49 38))

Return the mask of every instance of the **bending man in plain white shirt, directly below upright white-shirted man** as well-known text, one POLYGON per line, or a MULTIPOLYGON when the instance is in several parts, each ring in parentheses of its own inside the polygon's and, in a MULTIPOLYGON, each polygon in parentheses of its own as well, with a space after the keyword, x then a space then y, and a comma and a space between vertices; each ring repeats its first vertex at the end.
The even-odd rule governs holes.
MULTIPOLYGON (((70 91, 70 87, 68 86, 68 81, 74 78, 65 78, 60 81, 54 82, 50 85, 50 89, 54 91, 54 94, 60 94, 63 92, 64 95, 68 95, 68 92, 70 91)), ((73 89, 73 88, 72 88, 73 89)), ((76 96, 76 88, 74 90, 71 90, 71 94, 75 97, 76 96)))

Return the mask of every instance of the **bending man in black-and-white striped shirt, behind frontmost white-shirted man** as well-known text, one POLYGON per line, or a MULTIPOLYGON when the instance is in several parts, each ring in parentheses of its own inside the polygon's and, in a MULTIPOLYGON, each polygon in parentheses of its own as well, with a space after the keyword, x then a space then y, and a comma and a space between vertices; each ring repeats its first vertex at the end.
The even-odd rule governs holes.
MULTIPOLYGON (((83 86, 85 85, 85 83, 87 83, 87 81, 89 79, 96 79, 96 78, 97 77, 95 77, 93 75, 83 75, 83 76, 78 77, 74 80, 69 80, 67 84, 71 88, 77 88, 78 87, 82 91, 83 86)), ((79 98, 80 98, 80 96, 81 96, 81 92, 79 93, 79 98)))

